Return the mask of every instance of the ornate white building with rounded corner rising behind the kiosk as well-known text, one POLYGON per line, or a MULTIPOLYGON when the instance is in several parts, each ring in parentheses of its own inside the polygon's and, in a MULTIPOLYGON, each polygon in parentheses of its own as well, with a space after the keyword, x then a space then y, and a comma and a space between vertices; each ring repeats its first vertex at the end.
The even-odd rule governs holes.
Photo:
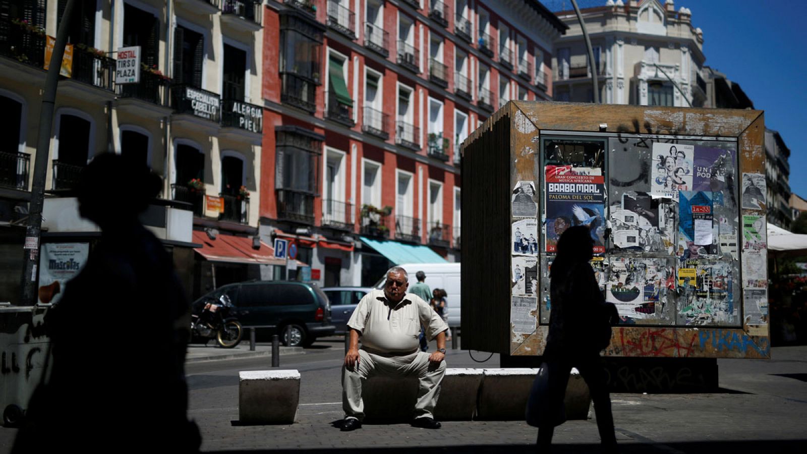
MULTIPOLYGON (((592 41, 600 102, 702 107, 703 32, 673 0, 608 0, 581 12, 592 41), (676 87, 677 85, 677 87, 676 87)), ((554 99, 591 103, 592 74, 575 11, 560 11, 569 30, 554 42, 554 99)))

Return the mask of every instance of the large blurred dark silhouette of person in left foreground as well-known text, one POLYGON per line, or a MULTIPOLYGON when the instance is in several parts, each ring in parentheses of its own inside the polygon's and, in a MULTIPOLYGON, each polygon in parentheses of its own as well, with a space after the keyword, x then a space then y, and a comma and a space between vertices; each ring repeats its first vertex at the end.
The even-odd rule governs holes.
POLYGON ((102 234, 45 317, 51 375, 13 452, 199 450, 186 415, 190 303, 165 246, 138 221, 160 188, 148 167, 116 154, 82 170, 79 211, 102 234))

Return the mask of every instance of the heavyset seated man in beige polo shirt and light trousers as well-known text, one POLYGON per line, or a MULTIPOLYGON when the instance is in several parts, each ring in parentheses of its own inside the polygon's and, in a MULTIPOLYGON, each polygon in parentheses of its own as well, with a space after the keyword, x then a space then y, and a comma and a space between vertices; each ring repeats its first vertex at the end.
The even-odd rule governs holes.
POLYGON ((445 331, 448 325, 420 296, 407 293, 409 276, 402 267, 387 271, 384 290, 373 290, 359 301, 350 317, 350 347, 342 368, 342 431, 362 427, 362 380, 374 373, 420 379, 412 426, 439 429, 433 410, 445 375, 445 331), (437 351, 420 351, 420 325, 429 339, 437 338, 437 351), (362 336, 362 348, 358 338, 362 336))

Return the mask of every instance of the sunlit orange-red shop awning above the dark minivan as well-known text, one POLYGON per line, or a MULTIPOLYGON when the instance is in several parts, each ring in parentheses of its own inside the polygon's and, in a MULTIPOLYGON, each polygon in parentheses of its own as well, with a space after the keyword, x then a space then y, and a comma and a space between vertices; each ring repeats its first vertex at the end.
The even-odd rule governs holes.
POLYGON ((211 240, 207 233, 199 230, 194 230, 193 238, 194 243, 202 245, 194 250, 211 262, 286 265, 286 260, 274 258, 274 250, 265 242, 261 242, 260 249, 253 249, 252 238, 219 233, 215 240, 211 240))

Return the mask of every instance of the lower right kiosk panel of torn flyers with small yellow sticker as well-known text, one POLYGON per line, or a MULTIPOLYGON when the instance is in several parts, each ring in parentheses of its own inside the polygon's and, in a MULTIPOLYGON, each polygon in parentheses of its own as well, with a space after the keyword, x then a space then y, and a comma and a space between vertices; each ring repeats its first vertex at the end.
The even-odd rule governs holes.
POLYGON ((682 260, 678 268, 678 324, 737 325, 734 284, 730 262, 682 260))

